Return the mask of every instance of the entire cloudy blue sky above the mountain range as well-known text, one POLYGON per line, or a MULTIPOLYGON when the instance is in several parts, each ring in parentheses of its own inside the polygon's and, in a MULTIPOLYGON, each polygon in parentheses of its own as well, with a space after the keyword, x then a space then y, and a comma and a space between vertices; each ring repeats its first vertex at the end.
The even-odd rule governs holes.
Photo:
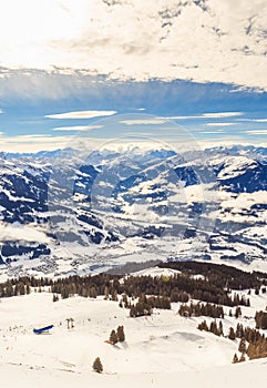
POLYGON ((0 0, 0 151, 267 145, 267 0, 0 0))

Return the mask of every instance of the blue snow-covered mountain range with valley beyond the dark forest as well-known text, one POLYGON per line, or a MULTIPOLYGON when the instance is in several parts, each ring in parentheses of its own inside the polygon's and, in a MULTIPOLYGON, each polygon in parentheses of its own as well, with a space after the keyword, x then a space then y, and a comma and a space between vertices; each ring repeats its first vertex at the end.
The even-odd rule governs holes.
MULTIPOLYGON (((267 152, 2 154, 0 270, 70 274, 203 258, 265 266, 267 152)), ((267 268, 267 266, 266 266, 267 268)))

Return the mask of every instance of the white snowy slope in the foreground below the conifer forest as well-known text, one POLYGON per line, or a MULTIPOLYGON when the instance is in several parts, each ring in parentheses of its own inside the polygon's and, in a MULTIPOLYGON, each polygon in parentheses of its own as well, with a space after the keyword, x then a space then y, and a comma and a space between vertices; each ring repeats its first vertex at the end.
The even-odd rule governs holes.
MULTIPOLYGON (((256 310, 267 296, 250 296, 242 307, 244 326, 255 326, 256 310)), ((2 298, 0 302, 0 376, 4 388, 14 387, 256 387, 267 379, 267 359, 233 365, 238 341, 199 331, 204 318, 155 310, 151 317, 130 318, 129 309, 103 298, 74 297, 52 302, 52 294, 2 298), (74 319, 68 329, 66 319, 74 319), (53 324, 50 334, 33 328, 53 324), (124 326, 125 343, 105 343, 112 329, 124 326), (100 357, 101 375, 92 370, 100 357)), ((228 312, 228 308, 225 308, 228 312)), ((207 321, 213 320, 206 318, 207 321)), ((223 319, 225 334, 237 320, 223 319)))

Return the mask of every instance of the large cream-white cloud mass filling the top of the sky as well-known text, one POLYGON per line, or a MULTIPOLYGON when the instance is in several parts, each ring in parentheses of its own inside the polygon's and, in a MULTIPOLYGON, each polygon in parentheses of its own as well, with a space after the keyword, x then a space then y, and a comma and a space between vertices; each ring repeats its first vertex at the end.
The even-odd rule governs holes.
POLYGON ((267 90, 266 24, 266 0, 9 0, 0 4, 0 58, 13 69, 267 90))

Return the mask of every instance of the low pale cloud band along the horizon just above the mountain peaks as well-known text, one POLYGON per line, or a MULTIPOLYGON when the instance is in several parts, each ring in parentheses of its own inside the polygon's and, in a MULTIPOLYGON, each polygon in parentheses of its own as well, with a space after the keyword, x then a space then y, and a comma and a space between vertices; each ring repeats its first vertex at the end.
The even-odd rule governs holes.
MULTIPOLYGON (((205 131, 199 132, 205 134, 205 131)), ((84 150, 100 150, 101 147, 104 149, 120 149, 121 145, 125 147, 133 147, 133 146, 140 146, 142 149, 152 149, 155 145, 157 147, 165 147, 168 146, 171 150, 181 150, 182 152, 187 150, 204 150, 206 147, 213 147, 217 146, 218 144, 225 145, 225 146, 232 146, 232 145, 260 145, 260 146, 267 146, 267 143, 263 142, 263 136, 266 137, 267 130, 265 131, 254 131, 254 133, 248 133, 249 141, 244 141, 243 136, 238 135, 229 135, 227 133, 224 134, 223 131, 216 130, 207 132, 209 134, 208 139, 195 139, 191 135, 184 134, 184 136, 173 136, 165 139, 164 136, 155 136, 151 135, 151 133, 137 133, 138 139, 127 139, 127 137, 119 137, 115 140, 112 139, 97 139, 97 137, 80 137, 75 135, 64 135, 64 136, 48 136, 48 135, 25 135, 25 136, 0 136, 0 152, 38 152, 38 151, 52 151, 57 149, 65 149, 65 147, 74 147, 81 151, 84 150), (218 137, 218 134, 220 132, 220 135, 218 137), (212 137, 210 135, 213 133, 218 133, 217 137, 212 137), (255 135, 255 136, 254 136, 255 135), (147 136, 147 139, 146 139, 147 136), (154 139, 154 143, 153 140, 154 139)), ((127 135, 136 135, 135 133, 129 133, 127 135)), ((172 133, 174 135, 174 132, 172 133)))

